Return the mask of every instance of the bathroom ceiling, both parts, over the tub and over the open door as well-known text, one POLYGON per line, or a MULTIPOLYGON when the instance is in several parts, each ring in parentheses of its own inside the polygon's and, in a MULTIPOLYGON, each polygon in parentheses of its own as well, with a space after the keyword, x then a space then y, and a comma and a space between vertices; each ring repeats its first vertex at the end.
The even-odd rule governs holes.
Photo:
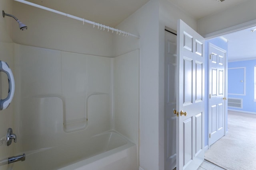
MULTIPOLYGON (((115 27, 149 0, 28 0, 54 10, 115 27)), ((196 20, 248 0, 168 0, 196 20), (210 7, 210 8, 209 8, 210 7)))

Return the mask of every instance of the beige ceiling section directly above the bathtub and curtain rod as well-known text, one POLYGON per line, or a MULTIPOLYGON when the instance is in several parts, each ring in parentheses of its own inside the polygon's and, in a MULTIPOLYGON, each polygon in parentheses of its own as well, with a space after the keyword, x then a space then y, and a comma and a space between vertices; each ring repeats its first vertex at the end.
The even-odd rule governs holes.
POLYGON ((27 0, 60 12, 115 27, 149 0, 27 0))

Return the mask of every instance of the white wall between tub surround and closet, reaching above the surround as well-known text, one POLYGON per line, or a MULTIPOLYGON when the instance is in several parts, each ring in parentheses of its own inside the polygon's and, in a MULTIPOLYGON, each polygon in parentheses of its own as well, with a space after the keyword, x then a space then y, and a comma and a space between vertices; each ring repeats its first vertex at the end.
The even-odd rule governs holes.
POLYGON ((140 35, 140 39, 114 37, 115 55, 140 49, 140 166, 158 169, 158 0, 151 0, 118 29, 140 35))

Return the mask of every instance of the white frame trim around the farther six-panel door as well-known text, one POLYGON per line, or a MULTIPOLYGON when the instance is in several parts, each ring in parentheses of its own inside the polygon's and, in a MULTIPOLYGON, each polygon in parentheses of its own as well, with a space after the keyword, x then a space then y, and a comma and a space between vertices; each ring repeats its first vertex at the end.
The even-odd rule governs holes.
MULTIPOLYGON (((225 65, 224 65, 224 70, 225 70, 225 79, 224 79, 224 81, 225 81, 225 86, 224 86, 224 97, 228 97, 228 56, 227 56, 227 51, 226 50, 224 50, 224 49, 222 49, 222 48, 220 48, 220 47, 218 47, 218 46, 216 46, 216 45, 214 45, 214 44, 212 44, 212 43, 210 43, 209 42, 209 45, 208 45, 208 56, 207 57, 209 57, 210 56, 210 47, 214 47, 215 49, 218 49, 219 51, 221 51, 221 52, 223 52, 223 53, 225 53, 225 65)), ((208 58, 209 59, 209 58, 208 58)), ((207 70, 208 70, 208 96, 207 96, 207 98, 209 97, 209 95, 210 95, 210 76, 209 76, 209 74, 210 74, 210 60, 208 60, 208 68, 206 68, 207 70)), ((210 116, 209 116, 209 112, 210 112, 210 100, 209 100, 209 98, 208 98, 208 102, 207 102, 207 106, 208 106, 208 149, 210 149, 210 116)), ((226 136, 226 134, 227 134, 227 131, 226 131, 226 120, 227 120, 227 117, 226 117, 226 114, 228 113, 228 101, 227 100, 224 100, 224 136, 226 136)))

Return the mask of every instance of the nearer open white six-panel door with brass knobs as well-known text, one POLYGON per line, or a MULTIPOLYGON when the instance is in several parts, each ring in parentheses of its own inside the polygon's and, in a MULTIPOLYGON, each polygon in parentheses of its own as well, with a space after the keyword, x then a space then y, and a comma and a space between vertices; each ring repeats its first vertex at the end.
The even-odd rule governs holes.
POLYGON ((176 164, 196 170, 204 160, 204 38, 182 20, 177 30, 176 164))

